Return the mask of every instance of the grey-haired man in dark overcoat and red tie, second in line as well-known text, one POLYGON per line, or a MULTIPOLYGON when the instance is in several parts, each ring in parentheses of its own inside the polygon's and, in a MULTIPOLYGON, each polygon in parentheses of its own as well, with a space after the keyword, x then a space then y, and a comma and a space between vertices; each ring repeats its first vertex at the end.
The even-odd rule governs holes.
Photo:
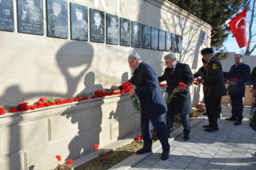
POLYGON ((167 68, 164 74, 158 77, 158 81, 167 81, 168 94, 170 95, 171 92, 175 93, 175 97, 171 99, 171 103, 167 106, 166 129, 169 137, 173 137, 174 116, 180 116, 184 127, 184 140, 187 141, 190 133, 189 114, 192 113, 189 86, 193 84, 194 76, 187 64, 177 62, 174 54, 166 54, 164 59, 167 68), (179 86, 179 82, 188 84, 188 87, 185 89, 176 89, 179 86))

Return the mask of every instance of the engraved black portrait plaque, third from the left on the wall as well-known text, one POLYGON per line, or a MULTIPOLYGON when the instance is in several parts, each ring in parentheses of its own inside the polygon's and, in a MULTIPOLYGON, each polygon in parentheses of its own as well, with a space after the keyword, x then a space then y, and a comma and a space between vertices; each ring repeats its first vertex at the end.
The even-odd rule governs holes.
POLYGON ((68 2, 47 0, 47 36, 68 38, 68 2))

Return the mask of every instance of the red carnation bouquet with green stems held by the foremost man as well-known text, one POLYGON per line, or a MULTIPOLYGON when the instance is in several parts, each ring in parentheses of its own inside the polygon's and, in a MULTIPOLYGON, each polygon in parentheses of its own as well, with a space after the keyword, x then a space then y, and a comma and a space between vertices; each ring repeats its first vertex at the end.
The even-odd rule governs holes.
MULTIPOLYGON (((126 93, 132 92, 133 86, 130 82, 125 82, 124 84, 122 84, 122 87, 124 92, 126 93)), ((131 96, 130 99, 132 99, 134 113, 139 114, 141 112, 141 105, 139 103, 139 99, 136 97, 136 95, 131 96)))

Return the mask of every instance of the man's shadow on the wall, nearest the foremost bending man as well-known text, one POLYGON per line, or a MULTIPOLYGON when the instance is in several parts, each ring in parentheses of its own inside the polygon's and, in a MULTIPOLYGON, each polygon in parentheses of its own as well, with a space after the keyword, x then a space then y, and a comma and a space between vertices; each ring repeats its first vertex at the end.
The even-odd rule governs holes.
MULTIPOLYGON (((95 84, 95 74, 90 71, 85 75, 85 88, 78 95, 93 93, 101 90, 101 84, 95 84)), ((90 96, 89 96, 90 97, 90 96)), ((103 103, 103 101, 102 101, 103 103)), ((68 144, 70 154, 68 158, 79 158, 93 151, 94 143, 100 144, 100 133, 102 132, 102 107, 99 103, 96 107, 83 107, 83 103, 69 107, 61 114, 67 119, 71 118, 72 124, 78 124, 78 132, 68 144)), ((67 158, 67 159, 68 159, 67 158)))

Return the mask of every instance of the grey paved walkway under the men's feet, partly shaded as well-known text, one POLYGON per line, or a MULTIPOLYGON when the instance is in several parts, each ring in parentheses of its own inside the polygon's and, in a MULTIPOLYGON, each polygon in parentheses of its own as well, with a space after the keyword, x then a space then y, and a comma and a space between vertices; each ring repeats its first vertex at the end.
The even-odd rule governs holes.
MULTIPOLYGON (((194 122, 189 141, 180 135, 171 139, 168 160, 160 160, 160 143, 153 153, 132 155, 111 169, 256 169, 256 132, 247 126, 251 107, 244 107, 244 120, 239 126, 225 118, 231 116, 231 107, 223 106, 223 118, 218 120, 220 131, 205 132, 208 119, 194 122)), ((175 132, 173 132, 175 136, 175 132)))

